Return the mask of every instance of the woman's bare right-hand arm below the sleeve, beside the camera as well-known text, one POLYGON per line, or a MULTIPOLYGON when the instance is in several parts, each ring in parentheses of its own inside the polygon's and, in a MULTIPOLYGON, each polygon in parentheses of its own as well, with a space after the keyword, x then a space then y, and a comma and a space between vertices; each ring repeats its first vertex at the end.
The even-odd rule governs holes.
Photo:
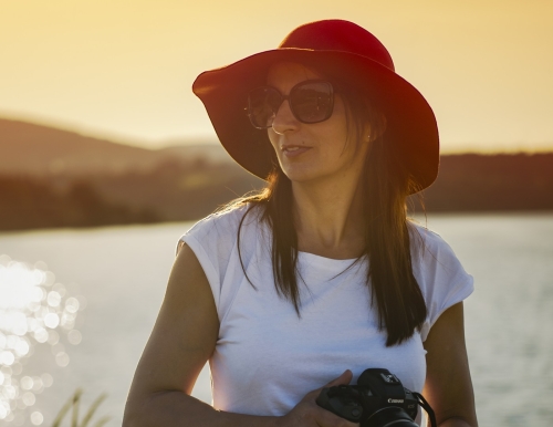
POLYGON ((462 302, 446 310, 425 342, 427 375, 422 395, 440 427, 477 427, 474 394, 465 345, 462 302))

